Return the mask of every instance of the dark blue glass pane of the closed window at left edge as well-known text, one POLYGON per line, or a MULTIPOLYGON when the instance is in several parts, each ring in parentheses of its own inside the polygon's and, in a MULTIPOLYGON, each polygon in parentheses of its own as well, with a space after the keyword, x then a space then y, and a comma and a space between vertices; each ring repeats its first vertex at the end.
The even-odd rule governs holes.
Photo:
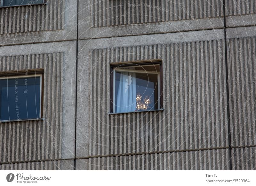
POLYGON ((0 80, 0 120, 40 118, 40 77, 0 80))

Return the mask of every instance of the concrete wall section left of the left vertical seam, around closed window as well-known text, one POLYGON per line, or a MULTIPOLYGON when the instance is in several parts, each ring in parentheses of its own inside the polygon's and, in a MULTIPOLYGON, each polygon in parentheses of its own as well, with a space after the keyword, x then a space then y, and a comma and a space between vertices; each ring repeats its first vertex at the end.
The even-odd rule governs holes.
POLYGON ((0 71, 44 68, 44 120, 1 123, 2 170, 73 169, 77 1, 46 3, 0 8, 0 71))

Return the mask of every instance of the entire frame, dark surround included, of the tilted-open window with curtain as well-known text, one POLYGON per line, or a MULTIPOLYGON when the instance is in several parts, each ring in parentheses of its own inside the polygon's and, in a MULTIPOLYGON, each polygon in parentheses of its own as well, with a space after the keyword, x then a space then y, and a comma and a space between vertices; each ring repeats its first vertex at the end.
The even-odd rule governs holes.
MULTIPOLYGON (((137 71, 138 72, 138 71, 137 71)), ((148 71, 151 72, 151 71, 148 71)), ((141 73, 141 71, 140 71, 141 73)), ((143 72, 142 72, 143 73, 143 72)), ((146 73, 146 72, 145 72, 146 73)), ((152 72, 151 72, 152 73, 152 72)), ((120 114, 120 113, 133 113, 133 112, 153 112, 153 111, 160 111, 163 110, 163 66, 161 59, 155 60, 142 60, 142 61, 134 61, 134 62, 121 62, 121 63, 110 63, 110 108, 108 114, 120 114), (154 74, 158 74, 157 86, 158 86, 158 109, 156 110, 145 110, 145 111, 131 111, 131 112, 114 112, 114 104, 115 104, 115 71, 124 71, 124 72, 135 72, 137 70, 130 70, 130 69, 122 69, 118 67, 131 67, 131 66, 152 66, 152 65, 159 65, 159 72, 155 72, 154 74)))

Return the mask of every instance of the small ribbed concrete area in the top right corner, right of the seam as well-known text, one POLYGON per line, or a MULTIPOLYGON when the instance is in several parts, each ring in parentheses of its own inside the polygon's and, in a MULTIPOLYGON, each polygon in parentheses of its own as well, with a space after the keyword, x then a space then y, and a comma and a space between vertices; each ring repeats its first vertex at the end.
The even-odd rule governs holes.
POLYGON ((256 13, 255 0, 226 0, 226 15, 249 15, 256 13))

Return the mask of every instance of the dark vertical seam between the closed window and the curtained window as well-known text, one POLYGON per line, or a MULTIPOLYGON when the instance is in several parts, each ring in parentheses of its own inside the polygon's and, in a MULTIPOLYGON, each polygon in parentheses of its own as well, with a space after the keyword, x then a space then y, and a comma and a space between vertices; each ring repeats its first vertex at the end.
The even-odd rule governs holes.
MULTIPOLYGON (((77 20, 76 20, 76 108, 75 114, 77 116, 77 68, 78 68, 78 4, 77 0, 77 20)), ((75 116, 75 118, 76 118, 75 116)), ((76 120, 75 120, 75 159, 74 159, 74 170, 76 170, 76 120)))

